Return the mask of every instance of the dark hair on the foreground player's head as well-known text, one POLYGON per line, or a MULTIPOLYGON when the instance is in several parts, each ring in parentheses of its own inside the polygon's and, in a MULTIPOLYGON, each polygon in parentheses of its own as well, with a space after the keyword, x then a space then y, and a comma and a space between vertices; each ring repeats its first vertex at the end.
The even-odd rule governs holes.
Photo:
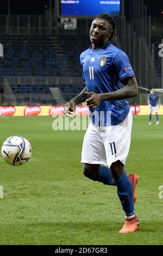
POLYGON ((117 25, 116 25, 115 20, 106 13, 102 13, 102 14, 97 15, 95 17, 95 19, 101 19, 101 20, 108 21, 109 25, 111 26, 111 30, 113 31, 111 36, 109 37, 109 40, 112 43, 114 41, 114 39, 116 38, 116 34, 117 34, 117 25))

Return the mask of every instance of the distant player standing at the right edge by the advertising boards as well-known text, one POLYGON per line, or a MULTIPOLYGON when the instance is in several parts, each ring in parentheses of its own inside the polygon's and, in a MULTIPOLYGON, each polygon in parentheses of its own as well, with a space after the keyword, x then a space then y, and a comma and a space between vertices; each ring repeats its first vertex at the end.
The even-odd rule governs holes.
POLYGON ((148 105, 149 105, 149 125, 152 124, 152 113, 155 112, 155 119, 156 119, 156 125, 160 124, 159 123, 159 115, 158 115, 158 108, 157 108, 157 103, 158 107, 160 107, 160 98, 159 96, 155 93, 155 90, 151 90, 151 94, 148 96, 148 105))

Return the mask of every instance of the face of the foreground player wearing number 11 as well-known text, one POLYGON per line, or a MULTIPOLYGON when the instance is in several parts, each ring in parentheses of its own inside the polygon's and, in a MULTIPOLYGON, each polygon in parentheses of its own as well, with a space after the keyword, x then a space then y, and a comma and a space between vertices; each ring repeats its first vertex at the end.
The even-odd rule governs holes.
POLYGON ((90 28, 90 40, 93 46, 98 47, 105 44, 111 35, 111 28, 108 21, 95 19, 90 28))

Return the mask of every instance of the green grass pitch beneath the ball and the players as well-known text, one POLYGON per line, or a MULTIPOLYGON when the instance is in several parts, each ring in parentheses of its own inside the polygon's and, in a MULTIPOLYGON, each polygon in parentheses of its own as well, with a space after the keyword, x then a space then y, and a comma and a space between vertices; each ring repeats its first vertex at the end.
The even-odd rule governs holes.
POLYGON ((163 117, 148 125, 135 116, 126 170, 140 177, 136 214, 141 228, 119 234, 124 214, 116 187, 85 178, 80 154, 85 131, 53 131, 52 117, 1 117, 0 143, 21 135, 33 155, 14 167, 0 157, 1 245, 162 245, 163 117))

